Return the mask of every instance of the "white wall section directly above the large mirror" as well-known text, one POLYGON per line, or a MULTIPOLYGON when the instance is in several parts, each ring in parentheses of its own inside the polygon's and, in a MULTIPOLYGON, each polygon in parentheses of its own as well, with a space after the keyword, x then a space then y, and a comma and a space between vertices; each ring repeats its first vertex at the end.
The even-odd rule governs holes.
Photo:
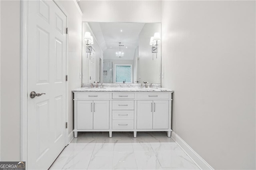
POLYGON ((79 1, 84 22, 161 22, 161 1, 79 1))

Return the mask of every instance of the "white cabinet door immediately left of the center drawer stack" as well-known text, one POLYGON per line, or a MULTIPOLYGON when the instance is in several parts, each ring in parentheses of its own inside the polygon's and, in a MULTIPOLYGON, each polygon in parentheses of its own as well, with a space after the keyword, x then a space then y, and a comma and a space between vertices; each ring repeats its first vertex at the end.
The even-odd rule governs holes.
POLYGON ((93 129, 109 129, 109 101, 94 101, 93 129))

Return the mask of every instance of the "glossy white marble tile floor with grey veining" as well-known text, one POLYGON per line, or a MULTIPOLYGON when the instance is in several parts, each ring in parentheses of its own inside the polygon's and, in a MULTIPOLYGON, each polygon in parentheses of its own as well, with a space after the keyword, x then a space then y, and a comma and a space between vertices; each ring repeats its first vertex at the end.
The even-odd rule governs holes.
POLYGON ((200 169, 166 132, 79 132, 49 170, 200 169))

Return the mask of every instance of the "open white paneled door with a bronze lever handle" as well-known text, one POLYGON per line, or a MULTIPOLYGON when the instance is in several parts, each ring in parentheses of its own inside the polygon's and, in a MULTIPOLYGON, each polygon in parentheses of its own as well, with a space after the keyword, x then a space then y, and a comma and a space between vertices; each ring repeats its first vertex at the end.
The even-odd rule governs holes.
POLYGON ((28 169, 48 169, 65 147, 65 75, 66 16, 52 0, 28 1, 28 169))

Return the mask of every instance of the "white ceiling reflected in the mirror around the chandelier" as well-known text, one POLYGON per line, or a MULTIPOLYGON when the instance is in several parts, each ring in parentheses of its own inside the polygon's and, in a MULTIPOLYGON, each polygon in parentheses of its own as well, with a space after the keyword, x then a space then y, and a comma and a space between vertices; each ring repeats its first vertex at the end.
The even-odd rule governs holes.
POLYGON ((99 43, 104 59, 117 59, 115 51, 124 51, 122 59, 133 59, 134 51, 138 47, 138 37, 144 23, 88 23, 99 43), (112 54, 113 53, 113 54, 112 54), (112 55, 111 55, 112 54, 112 55))

